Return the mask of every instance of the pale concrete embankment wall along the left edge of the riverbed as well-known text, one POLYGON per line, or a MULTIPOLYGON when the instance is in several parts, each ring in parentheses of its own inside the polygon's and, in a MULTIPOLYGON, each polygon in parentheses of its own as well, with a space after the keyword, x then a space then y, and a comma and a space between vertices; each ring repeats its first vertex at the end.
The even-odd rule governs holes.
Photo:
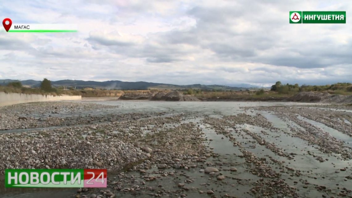
POLYGON ((14 105, 19 103, 33 103, 58 100, 81 100, 80 95, 40 95, 40 94, 20 94, 0 92, 0 106, 14 105))

